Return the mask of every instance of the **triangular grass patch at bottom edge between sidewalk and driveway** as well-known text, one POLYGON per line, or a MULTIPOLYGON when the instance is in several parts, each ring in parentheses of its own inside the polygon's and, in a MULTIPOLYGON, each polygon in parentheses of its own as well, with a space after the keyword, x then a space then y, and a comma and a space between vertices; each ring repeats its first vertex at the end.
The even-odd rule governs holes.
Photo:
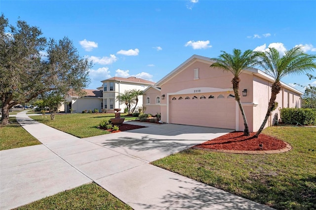
POLYGON ((15 210, 132 210, 95 183, 84 184, 15 210))

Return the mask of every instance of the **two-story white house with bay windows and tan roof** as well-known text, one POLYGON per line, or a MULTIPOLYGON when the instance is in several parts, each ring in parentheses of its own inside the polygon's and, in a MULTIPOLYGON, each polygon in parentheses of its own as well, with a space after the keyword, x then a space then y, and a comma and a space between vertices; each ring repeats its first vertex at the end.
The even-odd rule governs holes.
MULTIPOLYGON (((154 85, 155 82, 151 82, 145 79, 136 78, 134 76, 123 78, 123 77, 112 77, 101 81, 103 83, 103 108, 106 108, 109 112, 114 112, 115 108, 121 108, 122 111, 126 107, 120 101, 117 100, 117 96, 125 91, 133 89, 144 91, 150 85, 154 85)), ((143 96, 138 96, 138 105, 142 105, 143 96)), ((134 108, 132 105, 131 108, 134 108)))

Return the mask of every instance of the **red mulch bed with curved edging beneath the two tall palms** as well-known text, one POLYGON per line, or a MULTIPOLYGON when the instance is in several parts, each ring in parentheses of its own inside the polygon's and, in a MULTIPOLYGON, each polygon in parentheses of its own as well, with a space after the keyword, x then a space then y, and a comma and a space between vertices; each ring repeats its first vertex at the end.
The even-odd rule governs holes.
POLYGON ((243 136, 243 132, 232 132, 198 144, 196 147, 247 151, 278 150, 286 147, 284 141, 264 134, 260 134, 258 138, 251 139, 255 134, 256 133, 250 133, 249 137, 245 137, 243 136))

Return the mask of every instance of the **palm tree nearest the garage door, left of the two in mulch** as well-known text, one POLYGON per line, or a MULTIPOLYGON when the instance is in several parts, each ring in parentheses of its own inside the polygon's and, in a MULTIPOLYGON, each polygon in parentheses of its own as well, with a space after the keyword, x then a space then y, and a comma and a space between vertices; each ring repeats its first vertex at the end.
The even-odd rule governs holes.
POLYGON ((249 136, 249 128, 248 123, 246 119, 246 115, 244 113, 243 107, 240 102, 240 94, 239 94, 239 82, 240 78, 239 75, 246 69, 251 68, 258 64, 257 61, 257 52, 253 52, 252 50, 246 50, 244 53, 242 53, 239 49, 233 50, 233 55, 221 51, 223 54, 221 54, 218 58, 214 58, 216 62, 213 63, 210 67, 213 68, 219 68, 223 71, 229 71, 234 75, 234 78, 232 79, 233 84, 233 90, 235 93, 235 100, 237 101, 239 105, 239 109, 243 118, 243 124, 244 124, 244 136, 249 136))

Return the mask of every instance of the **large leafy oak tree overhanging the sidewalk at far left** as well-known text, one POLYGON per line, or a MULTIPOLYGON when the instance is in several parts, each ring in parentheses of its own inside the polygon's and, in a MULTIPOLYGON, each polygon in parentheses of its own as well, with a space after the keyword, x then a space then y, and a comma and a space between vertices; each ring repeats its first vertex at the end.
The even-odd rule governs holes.
POLYGON ((38 27, 17 21, 9 26, 0 16, 0 101, 2 125, 9 109, 49 91, 80 92, 88 83, 92 63, 81 58, 73 42, 64 37, 47 42, 38 27), (9 28, 7 30, 7 28, 9 28))

